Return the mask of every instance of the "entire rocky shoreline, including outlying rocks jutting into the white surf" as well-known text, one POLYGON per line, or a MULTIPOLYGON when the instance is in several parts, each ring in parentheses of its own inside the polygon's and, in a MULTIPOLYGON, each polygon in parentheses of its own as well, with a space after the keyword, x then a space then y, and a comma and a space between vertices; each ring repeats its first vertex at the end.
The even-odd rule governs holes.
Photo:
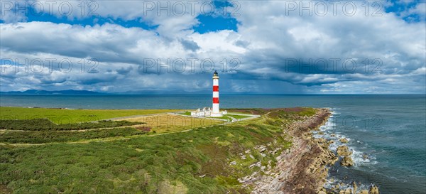
MULTIPOLYGON (((339 160, 342 166, 354 165, 351 151, 347 146, 339 146, 336 154, 329 149, 333 141, 313 137, 312 131, 319 130, 330 115, 329 109, 317 109, 315 116, 301 119, 288 126, 288 131, 285 132, 293 137, 292 148, 277 157, 277 165, 272 171, 268 171, 252 183, 253 194, 379 193, 375 185, 371 185, 368 190, 359 190, 356 183, 353 183, 351 188, 345 187, 346 189, 341 189, 344 186, 342 183, 335 183, 332 188, 324 188, 329 175, 329 166, 333 166, 339 160)), ((346 139, 340 141, 347 143, 346 139)))

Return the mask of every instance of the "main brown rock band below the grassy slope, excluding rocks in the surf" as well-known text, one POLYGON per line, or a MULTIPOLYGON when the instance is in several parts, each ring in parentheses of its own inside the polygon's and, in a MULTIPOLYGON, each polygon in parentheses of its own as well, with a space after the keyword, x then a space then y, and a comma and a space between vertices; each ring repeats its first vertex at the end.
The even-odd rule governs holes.
POLYGON ((246 183, 253 186, 252 194, 305 194, 320 191, 318 188, 324 185, 328 174, 326 166, 337 157, 326 146, 327 140, 320 139, 319 143, 312 139, 310 131, 318 129, 329 117, 327 109, 317 110, 315 117, 297 116, 296 122, 286 126, 288 135, 292 137, 292 147, 276 156, 277 163, 271 173, 246 183))

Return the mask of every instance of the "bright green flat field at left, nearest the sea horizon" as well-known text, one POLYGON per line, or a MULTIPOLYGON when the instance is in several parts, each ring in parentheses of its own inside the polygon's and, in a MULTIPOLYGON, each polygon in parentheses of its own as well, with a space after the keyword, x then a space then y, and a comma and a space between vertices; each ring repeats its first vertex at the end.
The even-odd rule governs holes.
POLYGON ((0 119, 50 119, 56 124, 93 122, 132 115, 178 112, 176 109, 45 109, 0 107, 0 119))

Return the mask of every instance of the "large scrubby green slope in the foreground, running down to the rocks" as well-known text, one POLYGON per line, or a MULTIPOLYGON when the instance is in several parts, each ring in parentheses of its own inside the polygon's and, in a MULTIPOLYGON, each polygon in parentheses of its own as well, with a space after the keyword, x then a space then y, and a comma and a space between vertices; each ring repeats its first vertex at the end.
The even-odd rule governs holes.
POLYGON ((275 166, 275 157, 291 145, 281 125, 305 112, 270 109, 258 119, 168 134, 131 128, 0 131, 0 188, 25 194, 250 193, 238 179, 262 173, 254 163, 275 166), (13 142, 55 144, 4 144, 13 142))

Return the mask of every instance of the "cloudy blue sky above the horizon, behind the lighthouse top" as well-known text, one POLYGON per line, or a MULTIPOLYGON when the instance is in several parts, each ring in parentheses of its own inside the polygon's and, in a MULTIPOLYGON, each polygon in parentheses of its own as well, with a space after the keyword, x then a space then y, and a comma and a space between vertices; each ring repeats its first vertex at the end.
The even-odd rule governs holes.
POLYGON ((0 91, 425 94, 425 1, 9 1, 0 91))

